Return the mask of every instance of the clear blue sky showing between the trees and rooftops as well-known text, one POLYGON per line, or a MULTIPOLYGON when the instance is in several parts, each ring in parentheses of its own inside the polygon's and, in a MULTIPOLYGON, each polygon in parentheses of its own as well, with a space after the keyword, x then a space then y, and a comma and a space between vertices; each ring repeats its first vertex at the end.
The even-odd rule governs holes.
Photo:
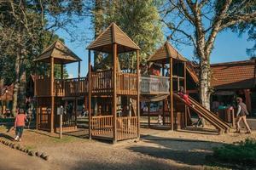
MULTIPOLYGON (((81 76, 85 77, 88 67, 88 50, 86 50, 86 47, 93 41, 93 30, 91 29, 90 20, 81 21, 77 26, 76 32, 80 35, 78 40, 70 41, 70 37, 65 31, 60 30, 56 31, 56 33, 59 37, 64 38, 67 47, 83 60, 81 62, 81 76)), ((238 36, 237 33, 231 31, 220 32, 214 43, 211 63, 249 59, 250 57, 247 55, 246 49, 251 47, 253 47, 253 42, 247 41, 247 33, 238 36)), ((187 59, 193 59, 193 47, 179 45, 178 51, 187 59)), ((70 78, 78 76, 78 63, 69 64, 66 68, 70 78)))

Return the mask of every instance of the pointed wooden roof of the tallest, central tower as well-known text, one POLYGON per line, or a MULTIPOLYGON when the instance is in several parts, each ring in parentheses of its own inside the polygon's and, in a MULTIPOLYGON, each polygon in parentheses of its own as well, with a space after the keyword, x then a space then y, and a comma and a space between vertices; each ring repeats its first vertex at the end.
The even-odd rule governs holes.
POLYGON ((96 37, 96 40, 91 42, 87 49, 112 53, 113 43, 118 44, 118 53, 141 49, 115 23, 112 23, 102 34, 96 37))

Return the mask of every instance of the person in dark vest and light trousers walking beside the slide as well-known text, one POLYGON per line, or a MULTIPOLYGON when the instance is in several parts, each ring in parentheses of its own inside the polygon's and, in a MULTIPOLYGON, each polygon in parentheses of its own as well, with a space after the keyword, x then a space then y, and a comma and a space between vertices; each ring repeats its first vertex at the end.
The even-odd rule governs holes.
POLYGON ((245 105, 242 102, 241 98, 236 98, 236 102, 237 102, 237 112, 236 112, 236 133, 240 133, 240 122, 242 121, 246 128, 247 128, 247 133, 251 133, 251 129, 247 124, 247 115, 248 115, 248 111, 247 111, 247 105, 245 105))

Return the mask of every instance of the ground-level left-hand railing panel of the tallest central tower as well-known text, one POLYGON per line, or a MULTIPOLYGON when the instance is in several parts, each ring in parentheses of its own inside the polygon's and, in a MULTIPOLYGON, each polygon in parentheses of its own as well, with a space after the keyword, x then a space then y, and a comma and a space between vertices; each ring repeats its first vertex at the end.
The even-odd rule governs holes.
POLYGON ((91 134, 112 135, 113 137, 113 116, 92 116, 91 117, 91 134))

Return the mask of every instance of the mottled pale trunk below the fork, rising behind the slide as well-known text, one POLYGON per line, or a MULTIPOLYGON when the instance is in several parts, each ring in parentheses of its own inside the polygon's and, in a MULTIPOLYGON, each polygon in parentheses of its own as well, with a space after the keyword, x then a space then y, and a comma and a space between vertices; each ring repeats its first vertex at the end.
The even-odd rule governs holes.
POLYGON ((210 96, 211 96, 211 71, 210 62, 208 59, 201 59, 200 61, 200 99, 201 105, 210 110, 210 96))

